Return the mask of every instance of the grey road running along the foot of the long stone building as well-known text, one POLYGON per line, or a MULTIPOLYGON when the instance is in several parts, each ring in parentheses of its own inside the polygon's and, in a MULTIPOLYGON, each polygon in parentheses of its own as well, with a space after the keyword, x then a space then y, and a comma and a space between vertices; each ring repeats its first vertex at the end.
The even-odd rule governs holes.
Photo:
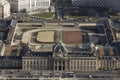
MULTIPOLYGON (((40 75, 40 74, 38 74, 40 75)), ((118 72, 113 71, 97 71, 97 72, 80 72, 75 73, 74 77, 61 77, 59 75, 58 77, 50 77, 50 76, 33 76, 32 74, 27 73, 27 75, 24 75, 24 73, 21 72, 12 72, 12 73, 0 73, 0 79, 39 79, 39 80, 120 80, 120 76, 118 75, 118 72)))

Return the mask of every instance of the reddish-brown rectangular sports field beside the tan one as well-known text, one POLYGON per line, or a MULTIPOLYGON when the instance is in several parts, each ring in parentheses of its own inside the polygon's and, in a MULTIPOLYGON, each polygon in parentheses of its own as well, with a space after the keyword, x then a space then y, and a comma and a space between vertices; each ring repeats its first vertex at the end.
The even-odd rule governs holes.
POLYGON ((81 44, 82 34, 80 31, 64 31, 63 42, 65 44, 81 44))

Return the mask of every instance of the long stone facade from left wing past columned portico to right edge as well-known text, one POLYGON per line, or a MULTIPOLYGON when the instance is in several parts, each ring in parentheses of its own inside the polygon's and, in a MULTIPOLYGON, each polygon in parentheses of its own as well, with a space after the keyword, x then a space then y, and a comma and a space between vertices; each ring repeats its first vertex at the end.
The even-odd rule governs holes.
POLYGON ((69 57, 68 59, 55 59, 53 57, 23 57, 22 70, 37 71, 50 70, 54 72, 92 72, 99 70, 115 70, 120 68, 120 60, 110 57, 69 57))

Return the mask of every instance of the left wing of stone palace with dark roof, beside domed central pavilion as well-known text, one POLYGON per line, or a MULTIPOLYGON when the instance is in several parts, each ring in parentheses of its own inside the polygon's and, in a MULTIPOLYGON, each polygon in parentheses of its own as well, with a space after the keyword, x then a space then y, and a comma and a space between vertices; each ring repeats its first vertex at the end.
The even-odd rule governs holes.
POLYGON ((22 70, 53 70, 51 52, 32 52, 22 57, 22 70))

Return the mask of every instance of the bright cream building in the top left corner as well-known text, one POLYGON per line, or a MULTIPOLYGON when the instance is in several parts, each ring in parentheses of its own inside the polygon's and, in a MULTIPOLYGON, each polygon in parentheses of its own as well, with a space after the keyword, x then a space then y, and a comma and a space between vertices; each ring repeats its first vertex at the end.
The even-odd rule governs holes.
POLYGON ((0 1, 0 18, 7 18, 10 16, 10 3, 6 0, 0 1))

